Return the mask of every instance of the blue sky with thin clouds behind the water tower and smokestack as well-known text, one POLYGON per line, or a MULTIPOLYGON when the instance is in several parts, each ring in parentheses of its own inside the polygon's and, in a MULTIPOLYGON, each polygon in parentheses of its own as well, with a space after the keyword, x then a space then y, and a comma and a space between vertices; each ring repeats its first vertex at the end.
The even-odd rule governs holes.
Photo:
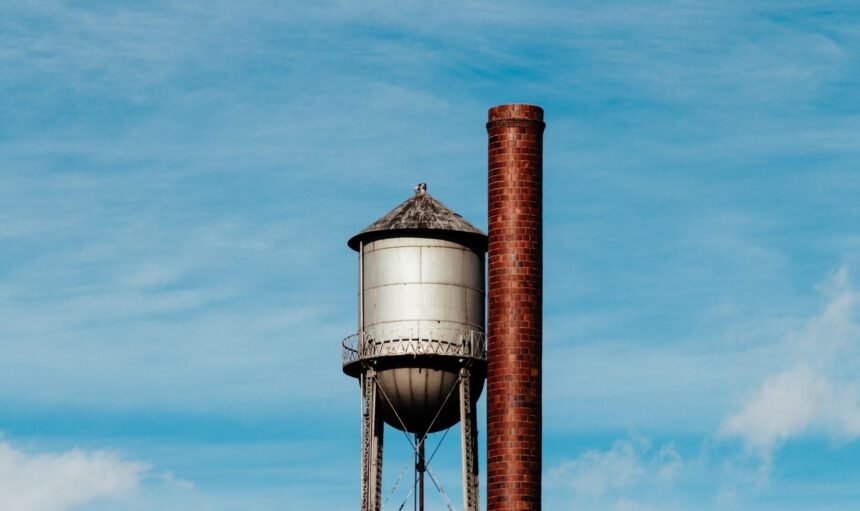
POLYGON ((485 228, 515 102, 544 508, 855 509, 858 56, 851 1, 0 1, 3 509, 357 509, 346 240, 418 182, 485 228))

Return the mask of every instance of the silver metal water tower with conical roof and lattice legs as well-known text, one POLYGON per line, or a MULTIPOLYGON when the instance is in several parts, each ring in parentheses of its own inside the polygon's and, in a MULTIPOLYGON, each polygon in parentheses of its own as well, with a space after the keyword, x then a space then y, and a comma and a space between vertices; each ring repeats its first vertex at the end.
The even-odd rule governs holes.
POLYGON ((423 509, 424 441, 460 422, 463 509, 477 511, 487 236, 419 184, 348 245, 358 252, 358 332, 343 342, 343 371, 361 387, 361 509, 381 509, 383 423, 412 435, 423 509))

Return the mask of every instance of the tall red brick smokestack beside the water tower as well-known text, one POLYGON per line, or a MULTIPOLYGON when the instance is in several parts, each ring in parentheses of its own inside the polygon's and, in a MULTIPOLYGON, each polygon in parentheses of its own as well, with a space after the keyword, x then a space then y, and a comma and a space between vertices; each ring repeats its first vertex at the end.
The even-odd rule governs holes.
POLYGON ((541 508, 543 109, 490 109, 487 511, 541 508))

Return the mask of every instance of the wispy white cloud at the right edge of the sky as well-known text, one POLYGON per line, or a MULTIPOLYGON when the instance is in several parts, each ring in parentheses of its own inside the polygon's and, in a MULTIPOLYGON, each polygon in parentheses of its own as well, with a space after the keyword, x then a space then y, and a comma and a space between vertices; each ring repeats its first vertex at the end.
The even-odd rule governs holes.
POLYGON ((720 428, 721 434, 740 438, 765 459, 804 434, 842 441, 860 437, 860 327, 855 319, 860 294, 845 268, 821 289, 830 298, 827 306, 784 344, 795 362, 767 377, 720 428))

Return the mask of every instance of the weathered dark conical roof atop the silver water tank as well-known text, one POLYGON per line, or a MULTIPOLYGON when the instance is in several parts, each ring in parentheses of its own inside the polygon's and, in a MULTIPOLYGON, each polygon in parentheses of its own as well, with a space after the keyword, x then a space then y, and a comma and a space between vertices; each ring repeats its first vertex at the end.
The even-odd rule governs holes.
POLYGON ((487 235, 429 193, 427 185, 415 187, 415 195, 349 239, 358 250, 359 242, 402 236, 438 237, 459 241, 480 252, 487 250, 487 235))

